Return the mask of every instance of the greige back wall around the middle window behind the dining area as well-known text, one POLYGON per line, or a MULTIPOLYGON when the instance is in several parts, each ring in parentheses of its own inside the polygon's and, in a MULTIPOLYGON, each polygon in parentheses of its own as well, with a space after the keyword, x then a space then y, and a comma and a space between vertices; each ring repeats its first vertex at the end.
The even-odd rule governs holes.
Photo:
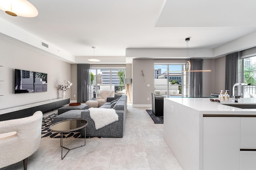
MULTIPOLYGON (((203 69, 212 70, 203 73, 203 94, 210 95, 215 91, 215 65, 214 59, 205 59, 203 69)), ((222 61, 221 61, 222 62, 222 61)), ((154 64, 186 63, 186 59, 133 59, 132 61, 132 87, 133 107, 151 107, 151 93, 154 93, 154 64), (144 78, 142 76, 144 72, 144 78), (150 87, 147 87, 147 85, 150 87), (148 97, 150 100, 148 100, 148 97)), ((225 63, 224 63, 225 65, 225 63)), ((217 68, 218 69, 218 68, 217 68)), ((225 74, 225 71, 224 71, 225 74)))

